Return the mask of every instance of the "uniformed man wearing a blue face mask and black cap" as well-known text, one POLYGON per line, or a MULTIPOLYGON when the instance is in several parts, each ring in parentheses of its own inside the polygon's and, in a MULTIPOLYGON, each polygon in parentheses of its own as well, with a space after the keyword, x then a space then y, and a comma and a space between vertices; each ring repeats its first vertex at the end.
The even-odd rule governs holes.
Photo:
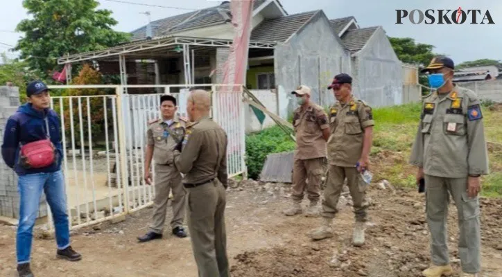
POLYGON ((447 247, 449 195, 458 211, 458 252, 462 276, 481 271, 478 193, 480 176, 488 174, 483 114, 476 93, 453 83, 453 61, 434 57, 422 72, 434 89, 422 104, 422 115, 410 163, 418 167, 417 183, 426 184, 426 213, 432 263, 427 277, 453 273, 447 247))

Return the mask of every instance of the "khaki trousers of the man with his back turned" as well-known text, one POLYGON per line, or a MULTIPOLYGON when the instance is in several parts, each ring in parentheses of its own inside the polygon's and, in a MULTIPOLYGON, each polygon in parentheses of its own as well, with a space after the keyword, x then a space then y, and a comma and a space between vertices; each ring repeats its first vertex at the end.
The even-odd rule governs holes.
POLYGON ((188 226, 199 277, 228 277, 225 187, 214 179, 187 190, 188 226))

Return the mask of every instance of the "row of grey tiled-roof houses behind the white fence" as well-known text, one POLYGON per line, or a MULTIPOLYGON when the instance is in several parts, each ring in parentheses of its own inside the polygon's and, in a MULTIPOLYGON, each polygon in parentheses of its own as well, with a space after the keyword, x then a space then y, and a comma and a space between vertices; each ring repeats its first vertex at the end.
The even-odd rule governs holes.
MULTIPOLYGON (((277 91, 280 116, 294 109, 290 92, 300 84, 311 87, 314 102, 330 105, 327 84, 338 73, 354 75, 354 93, 373 106, 401 103, 401 65, 381 27, 361 28, 354 17, 330 20, 322 10, 289 15, 279 0, 255 0, 251 26, 245 86, 277 91)), ((220 83, 234 37, 230 1, 152 21, 131 34, 128 44, 58 62, 93 61, 102 73, 120 74, 123 84, 220 83)))

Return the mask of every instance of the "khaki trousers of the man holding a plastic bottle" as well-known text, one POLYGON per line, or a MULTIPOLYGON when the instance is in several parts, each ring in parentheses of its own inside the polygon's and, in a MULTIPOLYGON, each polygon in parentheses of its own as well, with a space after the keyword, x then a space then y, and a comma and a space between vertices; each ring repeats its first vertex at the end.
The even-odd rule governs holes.
POLYGON ((334 218, 338 213, 336 206, 342 193, 345 178, 347 178, 347 186, 354 203, 356 221, 365 222, 367 205, 364 204, 365 186, 361 174, 356 168, 333 165, 329 165, 327 185, 324 189, 324 199, 322 199, 322 217, 334 218))

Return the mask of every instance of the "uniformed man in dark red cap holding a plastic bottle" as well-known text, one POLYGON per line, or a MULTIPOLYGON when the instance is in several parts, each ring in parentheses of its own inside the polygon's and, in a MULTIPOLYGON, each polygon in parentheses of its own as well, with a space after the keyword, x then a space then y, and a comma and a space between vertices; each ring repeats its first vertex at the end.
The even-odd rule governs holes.
POLYGON ((345 73, 336 75, 328 89, 333 89, 337 100, 329 109, 329 172, 322 201, 322 226, 310 236, 313 240, 333 236, 331 222, 338 213, 336 206, 347 178, 356 217, 353 244, 359 247, 365 242, 367 206, 363 203, 366 186, 361 172, 367 170, 370 163, 374 125, 372 109, 366 102, 352 95, 352 77, 345 73))

